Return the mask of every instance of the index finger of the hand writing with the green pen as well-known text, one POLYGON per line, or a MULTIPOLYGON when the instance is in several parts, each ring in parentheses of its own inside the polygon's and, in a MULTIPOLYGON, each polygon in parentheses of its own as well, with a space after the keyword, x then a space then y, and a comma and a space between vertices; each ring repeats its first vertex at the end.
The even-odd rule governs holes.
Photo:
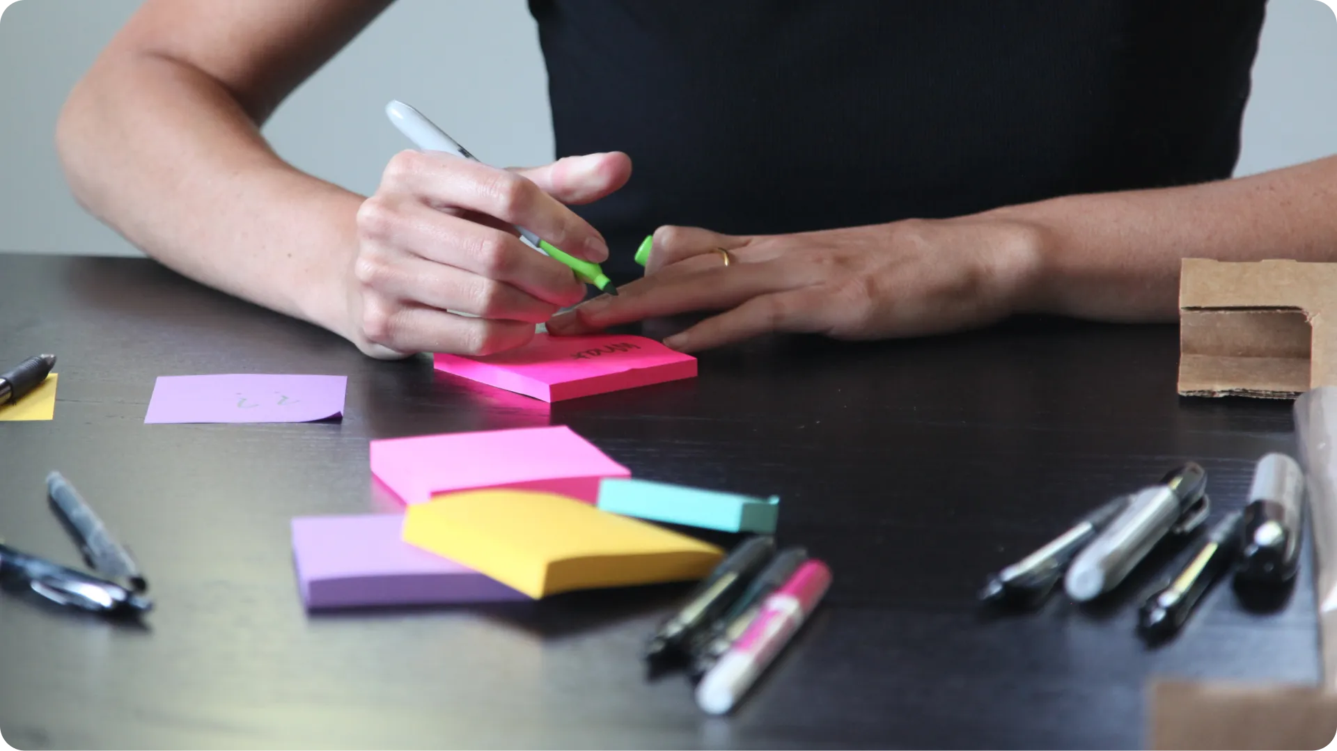
POLYGON ((452 206, 525 227, 587 261, 608 258, 594 227, 532 180, 507 170, 441 152, 402 151, 381 179, 388 192, 408 192, 429 206, 452 206))

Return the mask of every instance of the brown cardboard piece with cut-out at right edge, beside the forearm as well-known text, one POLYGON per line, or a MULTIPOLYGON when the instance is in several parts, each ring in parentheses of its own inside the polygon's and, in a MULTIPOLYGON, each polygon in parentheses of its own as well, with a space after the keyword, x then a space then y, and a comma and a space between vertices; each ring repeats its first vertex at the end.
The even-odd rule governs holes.
POLYGON ((1179 393, 1292 398, 1337 385, 1337 263, 1185 258, 1179 393))

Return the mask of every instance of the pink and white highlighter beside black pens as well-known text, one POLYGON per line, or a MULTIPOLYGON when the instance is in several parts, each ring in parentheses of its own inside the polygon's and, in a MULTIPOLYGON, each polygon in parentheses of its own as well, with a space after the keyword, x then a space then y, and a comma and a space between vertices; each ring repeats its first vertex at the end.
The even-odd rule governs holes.
POLYGON ((783 587, 766 597, 747 631, 701 679, 697 704, 711 715, 733 710, 813 613, 830 584, 832 571, 822 561, 801 565, 783 587))

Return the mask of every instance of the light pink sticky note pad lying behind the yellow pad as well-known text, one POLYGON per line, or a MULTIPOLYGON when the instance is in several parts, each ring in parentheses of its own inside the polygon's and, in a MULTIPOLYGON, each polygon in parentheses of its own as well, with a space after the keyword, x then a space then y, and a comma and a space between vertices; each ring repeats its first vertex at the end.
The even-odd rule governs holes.
POLYGON ((599 481, 630 477, 566 425, 372 441, 372 474, 406 504, 433 493, 519 488, 599 501, 599 481))

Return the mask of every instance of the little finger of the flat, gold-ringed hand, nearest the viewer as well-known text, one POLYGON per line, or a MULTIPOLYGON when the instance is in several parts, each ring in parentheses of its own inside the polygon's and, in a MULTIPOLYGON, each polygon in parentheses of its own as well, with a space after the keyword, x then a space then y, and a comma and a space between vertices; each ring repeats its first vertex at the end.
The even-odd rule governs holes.
POLYGON ((826 325, 813 311, 824 310, 824 293, 805 287, 755 297, 664 339, 678 351, 699 351, 759 337, 770 331, 816 333, 826 325))

